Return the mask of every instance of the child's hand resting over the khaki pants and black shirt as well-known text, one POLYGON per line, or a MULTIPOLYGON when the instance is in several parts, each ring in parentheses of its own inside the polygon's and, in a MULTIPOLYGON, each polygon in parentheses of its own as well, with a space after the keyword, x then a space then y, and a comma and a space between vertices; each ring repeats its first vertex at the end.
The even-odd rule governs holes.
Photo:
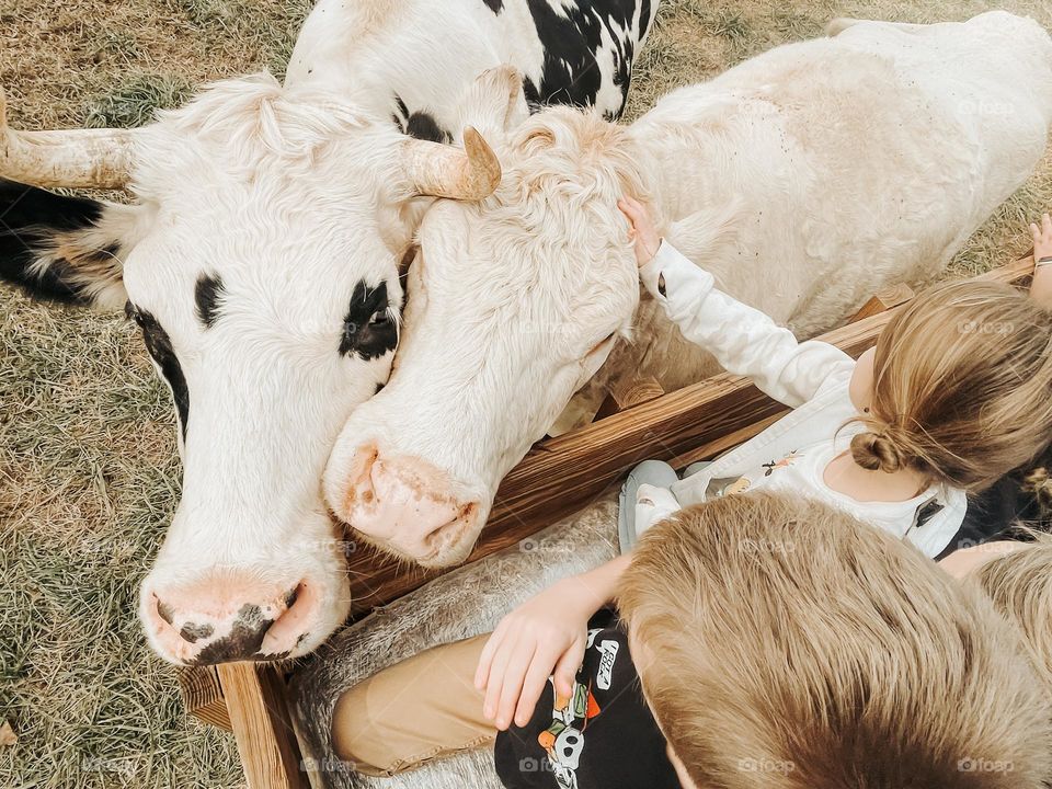
POLYGON ((553 676, 556 693, 569 697, 584 660, 588 619, 596 596, 581 579, 567 579, 501 620, 482 649, 474 686, 485 690, 483 714, 501 731, 523 727, 553 676))

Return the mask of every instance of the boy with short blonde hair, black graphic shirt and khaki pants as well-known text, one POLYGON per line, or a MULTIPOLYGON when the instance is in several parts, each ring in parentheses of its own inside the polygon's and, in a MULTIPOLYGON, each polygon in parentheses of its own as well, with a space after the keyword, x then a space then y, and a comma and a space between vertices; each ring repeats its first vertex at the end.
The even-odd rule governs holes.
POLYGON ((568 698, 549 681, 525 727, 482 714, 482 637, 345 694, 336 752, 389 775, 494 742, 505 786, 562 789, 1052 778, 1052 702, 1018 632, 974 584, 827 505, 767 493, 678 512, 641 538, 618 605, 627 637, 597 622, 568 698))

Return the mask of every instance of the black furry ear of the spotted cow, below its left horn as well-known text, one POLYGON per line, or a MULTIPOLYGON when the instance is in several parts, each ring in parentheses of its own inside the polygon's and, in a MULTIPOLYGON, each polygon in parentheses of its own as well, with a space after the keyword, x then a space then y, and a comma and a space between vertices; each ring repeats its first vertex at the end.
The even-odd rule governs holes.
POLYGON ((123 261, 141 219, 139 206, 0 180, 0 278, 46 299, 122 308, 123 261))

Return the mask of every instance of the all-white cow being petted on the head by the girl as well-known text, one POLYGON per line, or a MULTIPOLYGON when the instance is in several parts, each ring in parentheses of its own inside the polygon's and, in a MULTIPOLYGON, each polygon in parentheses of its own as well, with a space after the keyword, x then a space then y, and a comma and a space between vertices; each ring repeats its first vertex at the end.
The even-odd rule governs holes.
POLYGON ((397 369, 325 471, 333 511, 403 558, 455 563, 501 478, 597 369, 666 388, 711 370, 641 300, 622 193, 721 288, 801 335, 936 275, 1045 149, 1052 41, 1004 12, 836 27, 676 91, 629 128, 563 108, 527 118, 521 98, 502 101, 514 78, 489 75, 474 119, 503 181, 425 217, 397 369))

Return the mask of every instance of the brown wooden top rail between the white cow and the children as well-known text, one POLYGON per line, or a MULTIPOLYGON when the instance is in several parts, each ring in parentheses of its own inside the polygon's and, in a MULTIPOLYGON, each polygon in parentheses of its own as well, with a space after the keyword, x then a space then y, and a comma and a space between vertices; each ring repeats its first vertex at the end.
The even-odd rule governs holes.
MULTIPOLYGON (((975 278, 1020 284, 1032 271, 1033 261, 1021 260, 975 278)), ((869 315, 821 339, 858 356, 877 341, 891 315, 869 315)), ((755 435, 785 411, 747 379, 721 374, 539 442, 502 481, 490 519, 468 561, 515 545, 576 512, 614 490, 641 460, 661 458, 686 465, 710 458, 755 435)), ((355 615, 389 603, 443 572, 407 568, 364 545, 348 563, 355 615)))

